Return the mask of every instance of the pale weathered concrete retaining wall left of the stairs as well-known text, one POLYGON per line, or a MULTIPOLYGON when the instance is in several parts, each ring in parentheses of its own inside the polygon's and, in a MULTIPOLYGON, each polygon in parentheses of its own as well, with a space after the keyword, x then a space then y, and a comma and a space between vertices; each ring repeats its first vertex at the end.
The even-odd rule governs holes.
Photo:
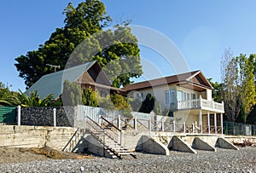
POLYGON ((0 147, 52 147, 61 151, 76 128, 0 125, 0 147))

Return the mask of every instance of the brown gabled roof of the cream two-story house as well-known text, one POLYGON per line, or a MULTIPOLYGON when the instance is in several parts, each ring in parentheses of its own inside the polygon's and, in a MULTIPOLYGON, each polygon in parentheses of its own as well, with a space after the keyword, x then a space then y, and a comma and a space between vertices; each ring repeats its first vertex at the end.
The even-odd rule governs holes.
POLYGON ((201 71, 185 72, 169 77, 156 78, 136 84, 130 84, 128 86, 125 86, 123 89, 126 91, 148 89, 165 84, 192 84, 196 85, 197 87, 213 89, 212 85, 209 83, 209 81, 201 71))

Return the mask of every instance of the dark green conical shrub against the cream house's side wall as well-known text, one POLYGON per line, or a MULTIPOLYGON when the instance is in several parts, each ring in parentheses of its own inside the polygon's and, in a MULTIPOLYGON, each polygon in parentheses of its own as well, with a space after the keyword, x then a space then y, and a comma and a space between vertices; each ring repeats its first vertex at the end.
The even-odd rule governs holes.
POLYGON ((160 103, 153 95, 148 94, 146 95, 146 99, 143 101, 142 107, 140 108, 139 112, 150 113, 152 110, 154 110, 154 112, 158 115, 162 114, 160 103))

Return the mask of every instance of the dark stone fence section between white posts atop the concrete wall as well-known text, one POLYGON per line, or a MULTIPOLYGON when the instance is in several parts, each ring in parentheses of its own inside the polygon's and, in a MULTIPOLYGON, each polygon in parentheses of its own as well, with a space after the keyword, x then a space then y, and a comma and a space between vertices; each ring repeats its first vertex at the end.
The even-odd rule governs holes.
POLYGON ((56 126, 74 127, 77 107, 22 107, 21 125, 53 126, 56 108, 56 126))

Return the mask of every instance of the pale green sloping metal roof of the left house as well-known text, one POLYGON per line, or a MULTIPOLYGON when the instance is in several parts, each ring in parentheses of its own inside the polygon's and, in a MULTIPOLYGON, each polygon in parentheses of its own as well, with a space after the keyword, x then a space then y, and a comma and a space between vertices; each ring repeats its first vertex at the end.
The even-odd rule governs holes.
POLYGON ((73 66, 59 72, 53 72, 44 75, 31 88, 27 89, 25 94, 30 95, 34 90, 38 90, 38 95, 41 99, 53 94, 55 98, 61 95, 65 80, 75 82, 85 71, 89 70, 90 66, 96 61, 90 61, 80 66, 73 66))

